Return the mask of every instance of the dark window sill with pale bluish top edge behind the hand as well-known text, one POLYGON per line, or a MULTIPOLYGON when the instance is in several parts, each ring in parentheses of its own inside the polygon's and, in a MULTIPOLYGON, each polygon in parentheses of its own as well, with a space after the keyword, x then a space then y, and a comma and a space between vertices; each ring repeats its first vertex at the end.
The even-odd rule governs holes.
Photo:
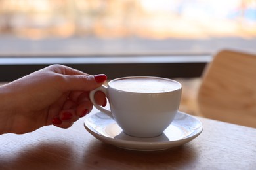
POLYGON ((11 81, 52 64, 68 65, 91 75, 199 77, 211 55, 195 56, 1 56, 0 81, 11 81))

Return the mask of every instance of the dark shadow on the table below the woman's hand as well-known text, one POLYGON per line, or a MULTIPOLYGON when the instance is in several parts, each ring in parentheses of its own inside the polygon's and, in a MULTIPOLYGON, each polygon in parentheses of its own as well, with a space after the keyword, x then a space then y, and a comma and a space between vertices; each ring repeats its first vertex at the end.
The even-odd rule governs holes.
POLYGON ((5 154, 5 160, 0 158, 0 169, 68 169, 74 155, 68 144, 41 142, 5 154))

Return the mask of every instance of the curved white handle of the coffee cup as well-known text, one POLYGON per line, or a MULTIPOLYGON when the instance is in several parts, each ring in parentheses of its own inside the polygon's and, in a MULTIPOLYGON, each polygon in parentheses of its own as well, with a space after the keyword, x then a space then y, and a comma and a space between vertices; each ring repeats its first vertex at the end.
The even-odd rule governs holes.
POLYGON ((113 119, 114 119, 114 117, 113 117, 113 115, 112 115, 112 113, 111 113, 110 110, 105 109, 104 107, 98 105, 98 104, 95 102, 95 93, 98 92, 98 91, 103 92, 103 93, 106 95, 106 97, 108 97, 107 87, 104 86, 104 85, 102 85, 102 86, 100 86, 99 88, 96 88, 95 90, 92 90, 92 91, 90 92, 89 97, 90 97, 91 102, 92 102, 93 105, 96 107, 96 109, 100 110, 100 111, 103 112, 104 114, 110 116, 110 118, 113 118, 113 119))

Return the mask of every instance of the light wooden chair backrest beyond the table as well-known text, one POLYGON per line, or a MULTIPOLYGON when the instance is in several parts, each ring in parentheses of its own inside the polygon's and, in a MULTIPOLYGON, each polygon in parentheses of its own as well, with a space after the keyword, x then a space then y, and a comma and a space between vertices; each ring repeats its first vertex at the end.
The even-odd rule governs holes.
POLYGON ((206 118, 256 128, 256 55, 219 52, 203 73, 198 109, 206 118))

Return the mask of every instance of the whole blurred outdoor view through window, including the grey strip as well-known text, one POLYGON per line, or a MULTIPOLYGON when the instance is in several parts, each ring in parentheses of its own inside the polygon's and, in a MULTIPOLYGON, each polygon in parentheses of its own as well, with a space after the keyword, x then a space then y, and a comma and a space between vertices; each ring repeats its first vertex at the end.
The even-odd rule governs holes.
POLYGON ((256 52, 256 0, 0 0, 0 55, 256 52))

